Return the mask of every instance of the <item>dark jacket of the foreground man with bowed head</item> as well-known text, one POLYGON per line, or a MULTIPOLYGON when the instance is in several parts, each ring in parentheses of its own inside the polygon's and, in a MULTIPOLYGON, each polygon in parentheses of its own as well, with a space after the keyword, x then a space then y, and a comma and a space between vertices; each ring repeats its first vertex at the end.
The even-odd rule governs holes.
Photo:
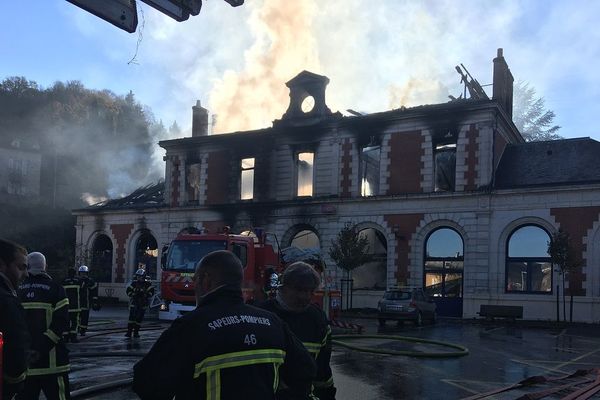
POLYGON ((313 381, 313 393, 319 400, 335 399, 336 389, 329 361, 331 359, 331 327, 325 313, 314 304, 305 311, 292 312, 283 309, 276 299, 267 300, 259 307, 277 314, 288 324, 291 331, 302 341, 317 362, 317 376, 313 381))

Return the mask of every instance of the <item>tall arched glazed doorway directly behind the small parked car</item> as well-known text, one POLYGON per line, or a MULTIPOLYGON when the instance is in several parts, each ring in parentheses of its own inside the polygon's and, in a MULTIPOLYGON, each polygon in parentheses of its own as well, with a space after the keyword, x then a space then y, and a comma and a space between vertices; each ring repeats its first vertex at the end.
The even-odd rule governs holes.
POLYGON ((431 232, 425 245, 424 287, 433 296, 437 313, 462 317, 464 245, 451 228, 431 232))

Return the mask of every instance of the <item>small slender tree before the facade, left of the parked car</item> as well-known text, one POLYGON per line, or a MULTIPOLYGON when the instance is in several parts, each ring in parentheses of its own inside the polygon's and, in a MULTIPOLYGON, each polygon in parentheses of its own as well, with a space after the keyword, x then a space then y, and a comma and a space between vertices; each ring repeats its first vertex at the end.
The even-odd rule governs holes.
POLYGON ((352 270, 373 261, 373 256, 369 254, 369 240, 361 236, 356 226, 348 222, 331 241, 329 257, 338 267, 346 271, 349 283, 346 292, 346 308, 348 308, 348 304, 352 304, 352 270))

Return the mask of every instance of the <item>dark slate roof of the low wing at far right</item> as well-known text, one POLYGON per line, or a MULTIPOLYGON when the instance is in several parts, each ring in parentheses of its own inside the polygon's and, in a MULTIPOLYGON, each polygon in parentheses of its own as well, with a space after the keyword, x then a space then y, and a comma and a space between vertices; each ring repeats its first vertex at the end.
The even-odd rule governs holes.
POLYGON ((496 189, 600 183, 600 142, 590 138, 509 144, 496 189))

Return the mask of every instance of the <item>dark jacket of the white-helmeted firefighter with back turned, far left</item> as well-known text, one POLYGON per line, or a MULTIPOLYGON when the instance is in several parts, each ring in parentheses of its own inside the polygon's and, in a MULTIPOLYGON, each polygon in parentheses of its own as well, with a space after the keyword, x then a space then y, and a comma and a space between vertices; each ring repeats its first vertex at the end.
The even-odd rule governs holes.
POLYGON ((29 275, 19 286, 31 335, 34 361, 29 375, 61 374, 69 371, 62 334, 69 327, 69 300, 63 287, 46 273, 29 275))

